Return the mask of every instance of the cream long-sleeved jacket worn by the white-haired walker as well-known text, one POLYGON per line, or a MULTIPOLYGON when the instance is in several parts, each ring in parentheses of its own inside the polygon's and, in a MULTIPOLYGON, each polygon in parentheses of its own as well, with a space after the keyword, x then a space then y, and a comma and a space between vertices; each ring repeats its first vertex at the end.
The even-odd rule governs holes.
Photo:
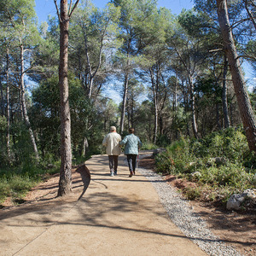
POLYGON ((107 147, 106 151, 108 155, 119 155, 121 154, 121 148, 119 142, 122 140, 120 135, 116 132, 109 132, 103 139, 102 145, 107 147))

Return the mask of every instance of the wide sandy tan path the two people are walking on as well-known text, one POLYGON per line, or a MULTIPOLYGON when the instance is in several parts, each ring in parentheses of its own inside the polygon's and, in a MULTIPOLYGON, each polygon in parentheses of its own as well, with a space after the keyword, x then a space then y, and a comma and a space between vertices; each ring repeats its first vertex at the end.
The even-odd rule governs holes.
POLYGON ((128 177, 125 157, 109 176, 108 157, 86 162, 88 189, 73 175, 73 196, 55 199, 57 177, 38 201, 0 212, 0 255, 206 255, 172 224, 148 180, 128 177))

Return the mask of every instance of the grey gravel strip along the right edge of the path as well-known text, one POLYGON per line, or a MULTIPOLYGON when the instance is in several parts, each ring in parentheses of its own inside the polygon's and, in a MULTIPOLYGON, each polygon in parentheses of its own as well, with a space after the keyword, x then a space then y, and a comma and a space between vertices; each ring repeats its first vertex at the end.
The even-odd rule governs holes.
POLYGON ((207 228, 207 224, 193 212, 188 201, 184 200, 171 185, 155 172, 138 168, 138 172, 147 177, 160 196, 166 212, 183 233, 202 250, 214 256, 241 256, 233 247, 227 246, 207 228))

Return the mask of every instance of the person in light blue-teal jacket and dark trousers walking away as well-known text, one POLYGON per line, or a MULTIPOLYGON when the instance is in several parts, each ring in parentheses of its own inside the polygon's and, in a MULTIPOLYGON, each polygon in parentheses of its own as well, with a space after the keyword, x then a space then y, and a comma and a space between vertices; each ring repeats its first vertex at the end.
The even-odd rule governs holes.
POLYGON ((124 139, 119 143, 121 146, 125 145, 125 155, 127 156, 128 166, 130 175, 135 175, 136 170, 136 160, 139 148, 142 148, 143 143, 139 137, 134 135, 134 129, 129 129, 129 135, 125 136, 124 139))

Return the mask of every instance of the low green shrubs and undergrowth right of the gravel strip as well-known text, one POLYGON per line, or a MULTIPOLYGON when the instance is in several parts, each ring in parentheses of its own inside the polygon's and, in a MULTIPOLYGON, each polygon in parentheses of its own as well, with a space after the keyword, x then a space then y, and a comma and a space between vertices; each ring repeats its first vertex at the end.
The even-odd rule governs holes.
POLYGON ((256 187, 255 154, 250 152, 243 132, 234 128, 200 140, 182 138, 155 160, 157 172, 196 184, 183 189, 189 200, 224 203, 230 195, 256 187))

